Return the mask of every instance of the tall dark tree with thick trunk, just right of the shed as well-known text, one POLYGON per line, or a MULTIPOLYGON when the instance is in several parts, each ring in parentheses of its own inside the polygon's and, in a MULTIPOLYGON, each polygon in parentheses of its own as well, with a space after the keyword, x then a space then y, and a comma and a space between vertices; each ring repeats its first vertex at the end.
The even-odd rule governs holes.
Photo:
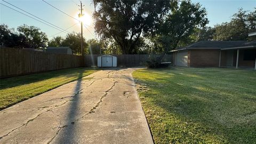
POLYGON ((155 29, 156 23, 177 1, 93 0, 95 31, 104 38, 114 39, 123 54, 136 53, 141 35, 155 29))

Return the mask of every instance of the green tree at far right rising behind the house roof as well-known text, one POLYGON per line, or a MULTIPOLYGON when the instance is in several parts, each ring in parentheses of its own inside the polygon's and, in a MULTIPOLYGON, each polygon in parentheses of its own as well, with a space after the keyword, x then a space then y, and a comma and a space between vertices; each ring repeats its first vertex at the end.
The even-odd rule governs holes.
POLYGON ((214 40, 246 41, 248 33, 256 31, 256 9, 253 12, 239 9, 230 22, 223 22, 215 26, 214 40))

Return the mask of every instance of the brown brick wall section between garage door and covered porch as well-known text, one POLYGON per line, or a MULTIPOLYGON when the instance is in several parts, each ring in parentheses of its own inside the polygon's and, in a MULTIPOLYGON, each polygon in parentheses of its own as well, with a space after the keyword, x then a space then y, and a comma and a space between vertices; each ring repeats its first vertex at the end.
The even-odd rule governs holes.
POLYGON ((219 67, 220 50, 202 49, 189 51, 189 67, 219 67))

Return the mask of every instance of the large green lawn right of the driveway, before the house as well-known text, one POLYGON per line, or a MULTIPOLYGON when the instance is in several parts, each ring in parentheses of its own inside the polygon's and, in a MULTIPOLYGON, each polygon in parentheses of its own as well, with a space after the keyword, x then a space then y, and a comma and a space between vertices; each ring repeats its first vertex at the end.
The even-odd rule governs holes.
POLYGON ((140 69, 133 77, 156 143, 256 143, 256 71, 140 69))

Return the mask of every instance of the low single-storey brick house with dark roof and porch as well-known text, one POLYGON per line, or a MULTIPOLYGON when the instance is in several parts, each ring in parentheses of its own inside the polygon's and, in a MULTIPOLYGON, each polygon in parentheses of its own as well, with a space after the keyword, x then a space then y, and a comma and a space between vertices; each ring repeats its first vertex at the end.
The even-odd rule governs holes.
POLYGON ((256 69, 256 41, 201 41, 171 53, 175 66, 256 69))

